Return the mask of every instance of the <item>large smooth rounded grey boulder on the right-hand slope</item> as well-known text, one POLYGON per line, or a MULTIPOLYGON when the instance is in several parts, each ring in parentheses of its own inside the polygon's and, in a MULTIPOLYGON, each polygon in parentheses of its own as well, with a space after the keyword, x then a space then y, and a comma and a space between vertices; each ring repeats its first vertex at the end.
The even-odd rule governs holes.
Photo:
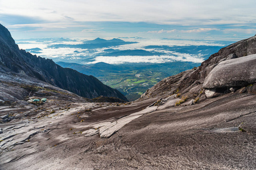
POLYGON ((205 78, 207 89, 247 86, 256 82, 256 54, 218 63, 205 78))

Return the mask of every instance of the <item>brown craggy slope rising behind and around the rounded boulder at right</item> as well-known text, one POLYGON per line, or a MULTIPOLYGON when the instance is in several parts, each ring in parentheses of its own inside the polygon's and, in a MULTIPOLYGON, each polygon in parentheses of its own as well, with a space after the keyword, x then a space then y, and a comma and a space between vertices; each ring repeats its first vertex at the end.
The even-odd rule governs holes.
MULTIPOLYGON (((203 91, 203 83, 205 81, 205 78, 214 69, 214 67, 218 65, 218 63, 240 57, 245 58, 239 61, 247 61, 246 57, 251 54, 256 54, 256 36, 238 41, 234 44, 220 49, 217 53, 212 54, 206 61, 201 63, 201 66, 197 67, 197 69, 183 71, 177 75, 170 76, 161 80, 160 82, 156 83, 155 86, 148 89, 144 94, 142 94, 141 98, 138 100, 150 99, 152 97, 162 97, 164 95, 172 95, 177 92, 179 92, 180 94, 188 95, 189 97, 195 97, 197 95, 200 95, 203 91)), ((251 67, 251 70, 249 69, 249 71, 253 72, 250 74, 253 74, 255 76, 255 61, 254 63, 251 63, 249 65, 251 67)), ((237 71, 239 72, 239 70, 237 71)), ((242 75, 242 73, 240 74, 242 75)), ((255 77, 250 79, 255 80, 255 77)), ((254 80, 250 81, 250 83, 255 83, 254 80)), ((240 82, 238 84, 246 85, 247 83, 240 82)), ((207 92, 210 92, 213 95, 213 91, 216 92, 216 90, 212 90, 212 92, 207 92)), ((226 90, 217 90, 218 95, 223 92, 226 92, 226 90)))

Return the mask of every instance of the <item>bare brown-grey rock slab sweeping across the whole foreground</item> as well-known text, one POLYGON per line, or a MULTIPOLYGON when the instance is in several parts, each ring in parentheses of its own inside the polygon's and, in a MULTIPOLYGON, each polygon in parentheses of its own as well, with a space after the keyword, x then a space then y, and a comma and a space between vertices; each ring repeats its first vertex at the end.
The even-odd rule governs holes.
POLYGON ((11 109, 23 117, 1 124, 0 169, 256 168, 255 94, 236 91, 174 107, 175 99, 55 100, 27 107, 28 116, 16 105, 11 109))

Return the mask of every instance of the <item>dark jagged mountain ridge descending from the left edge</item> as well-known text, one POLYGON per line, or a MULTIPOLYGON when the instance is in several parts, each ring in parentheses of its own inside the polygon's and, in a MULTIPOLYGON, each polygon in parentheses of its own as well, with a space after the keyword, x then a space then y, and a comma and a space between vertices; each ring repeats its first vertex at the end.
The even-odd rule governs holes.
POLYGON ((0 24, 0 71, 31 76, 43 82, 71 91, 82 97, 118 97, 127 101, 121 92, 110 88, 94 76, 81 74, 73 69, 56 65, 45 59, 19 50, 10 32, 0 24))

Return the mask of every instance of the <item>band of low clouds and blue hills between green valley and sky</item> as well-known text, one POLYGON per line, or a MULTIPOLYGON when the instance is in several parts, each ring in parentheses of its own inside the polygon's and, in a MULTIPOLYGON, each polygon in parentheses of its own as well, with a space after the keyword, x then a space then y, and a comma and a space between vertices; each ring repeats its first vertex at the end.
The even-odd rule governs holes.
MULTIPOLYGON (((103 39, 101 39, 103 40, 103 39)), ((113 39, 115 40, 115 39, 113 39)), ((117 39, 118 41, 121 41, 117 39)), ((86 40, 71 39, 27 39, 16 40, 19 48, 53 61, 76 62, 85 65, 106 62, 110 64, 122 63, 166 63, 174 61, 201 63, 208 54, 208 50, 217 52, 225 41, 192 41, 192 40, 138 40, 125 39, 122 43, 138 42, 135 44, 115 45, 103 48, 82 49, 80 45, 86 40), (193 45, 192 45, 193 44, 193 45), (63 48, 63 45, 67 47, 63 48), (71 47, 69 47, 71 45, 71 47)), ((90 42, 90 41, 88 41, 90 42)), ((101 45, 100 45, 101 46, 101 45)), ((86 47, 86 46, 85 46, 86 47)))

